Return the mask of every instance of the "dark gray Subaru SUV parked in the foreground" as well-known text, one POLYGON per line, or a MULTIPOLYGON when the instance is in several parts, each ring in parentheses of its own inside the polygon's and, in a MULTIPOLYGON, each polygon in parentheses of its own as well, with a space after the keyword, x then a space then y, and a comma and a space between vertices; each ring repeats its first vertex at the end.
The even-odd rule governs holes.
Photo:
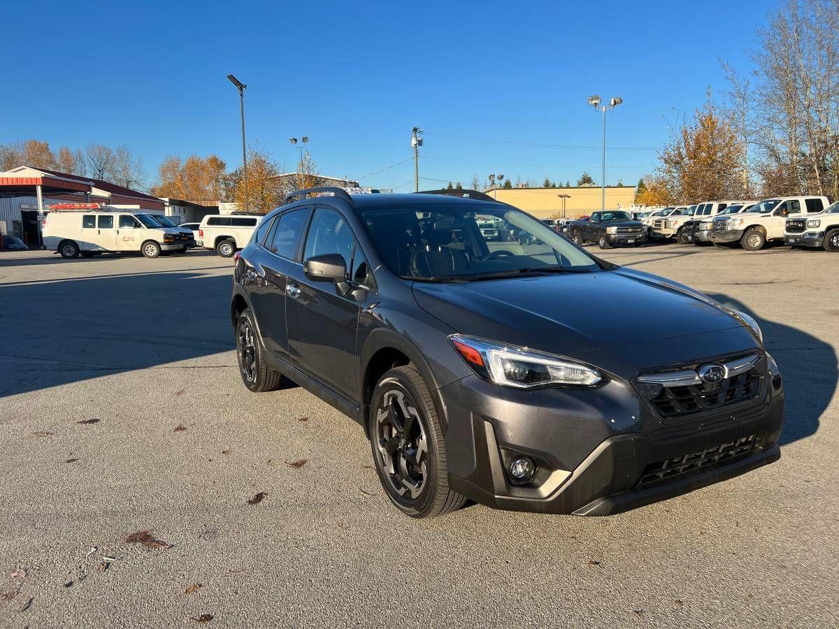
POLYGON ((453 194, 320 188, 268 213, 233 276, 245 386, 287 377, 361 424, 411 517, 608 515, 779 458, 751 316, 453 194))

